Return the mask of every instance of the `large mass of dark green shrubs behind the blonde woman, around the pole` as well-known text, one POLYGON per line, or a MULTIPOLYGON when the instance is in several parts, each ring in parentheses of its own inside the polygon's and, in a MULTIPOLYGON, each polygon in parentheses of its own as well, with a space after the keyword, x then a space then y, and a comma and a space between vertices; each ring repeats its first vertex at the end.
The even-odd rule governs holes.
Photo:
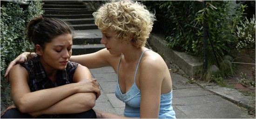
MULTIPOLYGON (((236 25, 244 20, 247 6, 243 4, 239 6, 236 1, 205 2, 206 6, 203 8, 203 2, 199 1, 142 1, 150 11, 155 12, 156 17, 159 14, 164 16, 164 20, 157 19, 161 22, 156 24, 166 27, 164 35, 168 41, 167 46, 171 49, 187 52, 203 59, 203 26, 205 25, 208 29, 207 68, 217 65, 221 70, 218 76, 230 76, 235 66, 226 63, 222 57, 236 55, 236 25)), ((160 30, 162 29, 155 31, 160 30)), ((211 73, 207 74, 203 69, 198 73, 201 73, 202 78, 207 77, 206 75, 209 75, 209 78, 212 77, 211 73)))

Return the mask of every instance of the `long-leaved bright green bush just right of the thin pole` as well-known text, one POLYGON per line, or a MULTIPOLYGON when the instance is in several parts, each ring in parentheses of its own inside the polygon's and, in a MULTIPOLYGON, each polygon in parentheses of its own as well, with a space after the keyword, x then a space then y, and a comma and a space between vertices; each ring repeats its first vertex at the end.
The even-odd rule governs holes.
MULTIPOLYGON (((209 31, 207 34, 208 51, 213 52, 215 50, 220 58, 226 54, 233 55, 235 48, 233 45, 236 41, 234 26, 238 24, 238 21, 242 21, 243 11, 246 8, 242 5, 238 7, 236 14, 230 14, 230 6, 232 6, 230 1, 207 1, 206 7, 198 12, 195 19, 201 25, 197 32, 200 38, 203 35, 203 22, 206 22, 209 31)), ((203 44, 202 42, 203 40, 199 39, 198 42, 193 42, 192 46, 200 46, 203 44)), ((193 51, 199 55, 203 49, 202 47, 193 47, 193 51)), ((209 57, 209 59, 212 58, 209 57)))

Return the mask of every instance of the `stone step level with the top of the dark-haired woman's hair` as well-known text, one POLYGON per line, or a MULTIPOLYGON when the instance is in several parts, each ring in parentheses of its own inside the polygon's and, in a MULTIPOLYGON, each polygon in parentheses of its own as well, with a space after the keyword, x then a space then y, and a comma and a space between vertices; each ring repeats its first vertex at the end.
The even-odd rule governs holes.
POLYGON ((58 19, 85 19, 93 18, 92 14, 75 14, 75 15, 59 15, 59 14, 44 14, 47 18, 58 18, 58 19))

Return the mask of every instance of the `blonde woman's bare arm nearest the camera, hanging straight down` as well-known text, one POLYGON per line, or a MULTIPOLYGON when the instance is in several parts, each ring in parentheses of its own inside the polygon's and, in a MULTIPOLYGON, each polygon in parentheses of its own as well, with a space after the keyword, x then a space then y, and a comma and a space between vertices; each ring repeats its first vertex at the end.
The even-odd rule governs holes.
POLYGON ((160 58, 147 58, 141 62, 140 89, 141 89, 141 118, 158 118, 163 81, 160 58), (157 63, 157 64, 156 64, 157 63), (150 64, 150 65, 149 65, 150 64))

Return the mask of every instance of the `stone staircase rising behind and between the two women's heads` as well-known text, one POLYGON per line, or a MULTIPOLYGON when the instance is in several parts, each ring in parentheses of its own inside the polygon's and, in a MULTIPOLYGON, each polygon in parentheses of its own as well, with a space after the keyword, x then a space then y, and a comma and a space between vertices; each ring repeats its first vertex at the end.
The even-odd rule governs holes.
POLYGON ((44 17, 59 18, 74 27, 73 54, 93 53, 105 48, 100 43, 101 31, 94 24, 92 13, 87 0, 45 0, 43 1, 44 17))

